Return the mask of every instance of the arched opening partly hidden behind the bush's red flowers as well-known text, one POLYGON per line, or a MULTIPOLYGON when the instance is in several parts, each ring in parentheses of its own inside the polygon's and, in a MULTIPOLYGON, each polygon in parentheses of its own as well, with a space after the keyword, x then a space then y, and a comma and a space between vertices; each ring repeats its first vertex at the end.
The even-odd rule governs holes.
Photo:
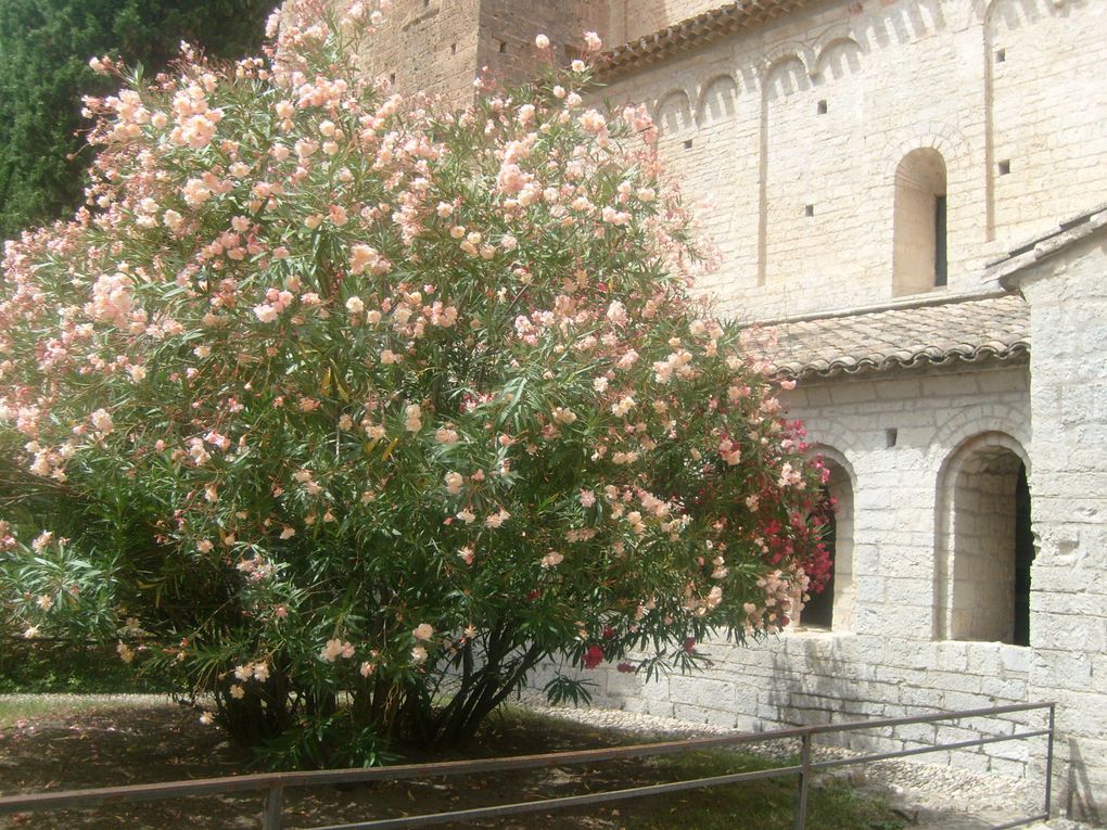
POLYGON ((830 579, 820 593, 811 594, 799 612, 806 629, 849 631, 853 625, 853 486, 849 473, 824 457, 830 478, 824 488, 827 507, 834 507, 824 530, 830 553, 830 579))

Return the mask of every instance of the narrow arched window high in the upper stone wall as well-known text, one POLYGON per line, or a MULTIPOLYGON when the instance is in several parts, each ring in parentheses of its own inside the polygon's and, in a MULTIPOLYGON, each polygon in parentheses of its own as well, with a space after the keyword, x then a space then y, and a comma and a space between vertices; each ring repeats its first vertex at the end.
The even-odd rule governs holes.
POLYGON ((908 153, 896 169, 892 294, 946 284, 945 160, 937 149, 908 153))

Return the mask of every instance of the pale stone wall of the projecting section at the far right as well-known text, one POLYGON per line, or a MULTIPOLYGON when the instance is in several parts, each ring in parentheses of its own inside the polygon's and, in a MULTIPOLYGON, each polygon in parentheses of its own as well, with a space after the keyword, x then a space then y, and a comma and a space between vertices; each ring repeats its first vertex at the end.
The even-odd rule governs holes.
POLYGON ((1018 287, 1034 339, 1030 679, 1062 704, 1066 805, 1107 821, 1107 230, 1018 287))

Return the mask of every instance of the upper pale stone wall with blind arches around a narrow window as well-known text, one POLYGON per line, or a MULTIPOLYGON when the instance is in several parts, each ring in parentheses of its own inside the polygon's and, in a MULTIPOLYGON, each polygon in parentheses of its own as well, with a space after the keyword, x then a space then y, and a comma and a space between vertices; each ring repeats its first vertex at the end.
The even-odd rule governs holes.
POLYGON ((932 290, 970 292, 987 260, 1107 190, 1105 22, 1092 0, 813 3, 603 94, 659 106, 662 149, 723 258, 701 284, 728 310, 901 293, 896 170, 921 148, 946 168, 950 284, 932 290), (691 113, 679 136, 674 98, 691 113))

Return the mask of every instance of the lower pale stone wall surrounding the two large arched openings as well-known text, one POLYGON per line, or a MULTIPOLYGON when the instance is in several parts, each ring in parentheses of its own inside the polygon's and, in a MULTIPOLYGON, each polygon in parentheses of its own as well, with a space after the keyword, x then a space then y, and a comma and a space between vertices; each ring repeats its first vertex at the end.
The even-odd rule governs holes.
MULTIPOLYGON (((649 684, 613 668, 584 672, 599 684, 597 699, 752 730, 1028 702, 1031 649, 940 635, 950 609, 939 574, 953 563, 935 543, 937 529, 951 519, 956 478, 968 475, 951 465, 960 448, 974 440, 1030 445, 1026 366, 808 381, 788 403, 816 447, 850 478, 851 504, 839 505, 849 511, 840 533, 848 535, 850 550, 847 569, 836 572, 841 584, 832 631, 786 631, 746 649, 715 643, 707 646, 714 666, 702 675, 649 684)), ((851 745, 969 739, 1005 734, 1018 720, 915 726, 888 739, 856 736, 851 745)), ((953 760, 1023 776, 1028 759, 1043 751, 1042 743, 1011 743, 953 760)))

